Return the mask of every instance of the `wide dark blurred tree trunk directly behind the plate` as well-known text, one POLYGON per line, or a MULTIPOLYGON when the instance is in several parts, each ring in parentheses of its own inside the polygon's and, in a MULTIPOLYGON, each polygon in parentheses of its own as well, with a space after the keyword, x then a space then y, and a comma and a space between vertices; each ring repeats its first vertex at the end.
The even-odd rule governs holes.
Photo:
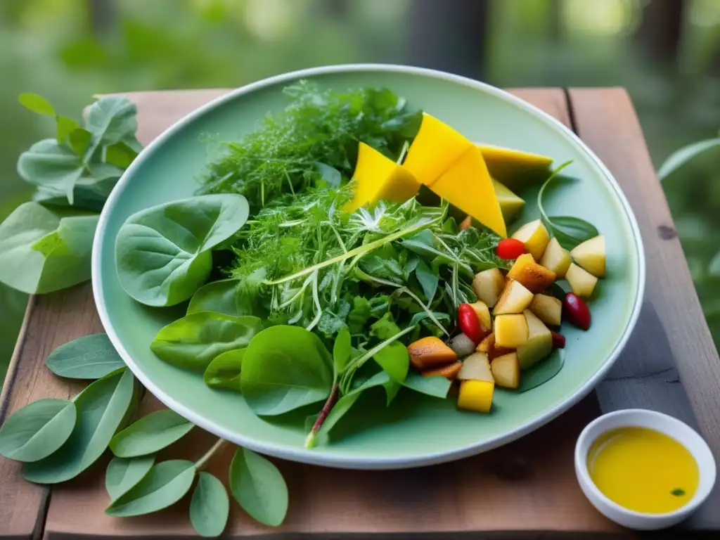
POLYGON ((488 12, 488 0, 413 0, 410 61, 482 80, 488 12))

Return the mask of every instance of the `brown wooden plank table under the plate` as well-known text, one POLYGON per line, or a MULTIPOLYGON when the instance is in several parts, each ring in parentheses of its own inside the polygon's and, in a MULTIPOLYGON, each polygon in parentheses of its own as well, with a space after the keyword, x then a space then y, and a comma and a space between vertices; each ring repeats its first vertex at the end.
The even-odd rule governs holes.
MULTIPOLYGON (((226 91, 126 95, 138 104, 138 136, 147 144, 226 91)), ((395 472, 278 462, 290 490, 284 525, 276 530, 258 526, 233 503, 228 538, 277 533, 284 533, 282 538, 618 534, 621 529, 585 500, 573 470, 575 439, 600 411, 639 407, 674 415, 703 433, 720 462, 720 361, 629 96, 616 88, 512 92, 580 135, 610 168, 634 209, 645 242, 647 291, 626 350, 595 392, 575 408, 487 454, 395 472)), ((66 398, 77 392, 78 387, 54 377, 43 362, 56 346, 98 331, 102 326, 89 284, 32 297, 3 387, 0 420, 41 397, 66 398)), ((143 406, 153 410, 160 405, 148 396, 143 406)), ((209 434, 195 430, 168 455, 192 459, 210 444, 209 434)), ((211 470, 222 477, 229 459, 230 449, 211 470)), ((19 464, 0 459, 0 539, 169 539, 194 534, 186 503, 143 518, 105 516, 106 463, 107 458, 78 479, 49 488, 24 482, 19 464)), ((684 527, 720 531, 719 490, 684 527)))

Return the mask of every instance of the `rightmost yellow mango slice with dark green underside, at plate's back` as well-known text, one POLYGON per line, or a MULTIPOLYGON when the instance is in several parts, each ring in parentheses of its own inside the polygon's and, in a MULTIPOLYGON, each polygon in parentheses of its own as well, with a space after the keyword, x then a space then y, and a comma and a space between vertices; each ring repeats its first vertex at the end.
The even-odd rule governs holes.
POLYGON ((552 158, 540 154, 477 143, 492 178, 509 189, 521 189, 535 181, 544 181, 550 172, 552 158))

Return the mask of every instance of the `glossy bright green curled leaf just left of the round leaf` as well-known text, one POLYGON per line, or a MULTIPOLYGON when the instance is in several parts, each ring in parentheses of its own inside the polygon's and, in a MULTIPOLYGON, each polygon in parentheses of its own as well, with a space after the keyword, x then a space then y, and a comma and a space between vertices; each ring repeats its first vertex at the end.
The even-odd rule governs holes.
POLYGON ((169 364, 204 372, 218 355, 248 346, 261 328, 257 317, 200 311, 162 328, 150 348, 169 364))

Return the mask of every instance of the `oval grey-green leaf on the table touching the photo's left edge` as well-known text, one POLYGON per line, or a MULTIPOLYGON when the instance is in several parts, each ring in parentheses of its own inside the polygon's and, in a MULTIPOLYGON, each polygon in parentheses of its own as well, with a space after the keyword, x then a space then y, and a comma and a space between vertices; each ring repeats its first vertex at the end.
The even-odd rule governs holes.
POLYGON ((0 455, 17 462, 37 462, 63 446, 75 422, 75 403, 34 401, 13 413, 0 427, 0 455))

